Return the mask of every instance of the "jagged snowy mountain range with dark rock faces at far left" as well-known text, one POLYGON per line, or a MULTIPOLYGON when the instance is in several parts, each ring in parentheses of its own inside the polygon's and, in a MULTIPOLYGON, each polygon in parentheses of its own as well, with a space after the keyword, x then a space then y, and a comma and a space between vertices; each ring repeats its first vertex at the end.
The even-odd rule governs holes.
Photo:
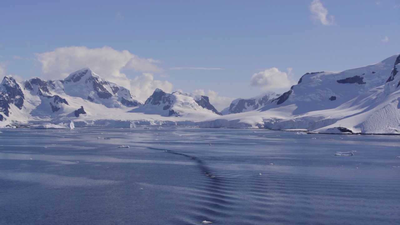
POLYGON ((36 77, 17 82, 12 76, 6 76, 0 84, 0 119, 20 123, 68 114, 79 117, 86 114, 84 108, 96 113, 104 108, 141 104, 128 89, 104 80, 89 68, 73 72, 64 80, 36 77))

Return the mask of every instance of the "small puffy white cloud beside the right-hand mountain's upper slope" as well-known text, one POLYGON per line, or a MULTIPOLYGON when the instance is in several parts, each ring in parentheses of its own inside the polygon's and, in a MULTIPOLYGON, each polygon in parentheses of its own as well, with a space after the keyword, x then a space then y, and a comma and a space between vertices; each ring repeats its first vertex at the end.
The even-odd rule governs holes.
POLYGON ((261 90, 272 90, 280 88, 288 88, 295 84, 292 79, 292 68, 288 68, 288 73, 279 71, 273 67, 259 73, 253 74, 251 85, 258 86, 261 90))

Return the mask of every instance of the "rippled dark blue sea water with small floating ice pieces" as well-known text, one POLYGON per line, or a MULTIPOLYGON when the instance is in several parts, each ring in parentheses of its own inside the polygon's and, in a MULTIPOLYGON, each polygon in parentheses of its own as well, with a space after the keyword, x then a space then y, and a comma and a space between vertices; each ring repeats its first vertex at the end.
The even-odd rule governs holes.
POLYGON ((399 136, 2 129, 0 224, 398 225, 399 156, 399 136))

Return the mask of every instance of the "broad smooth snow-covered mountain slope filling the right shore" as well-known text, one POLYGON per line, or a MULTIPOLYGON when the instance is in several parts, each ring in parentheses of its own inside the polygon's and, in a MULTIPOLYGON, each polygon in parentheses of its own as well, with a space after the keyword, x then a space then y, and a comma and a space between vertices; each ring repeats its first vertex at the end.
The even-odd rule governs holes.
POLYGON ((397 54, 377 64, 343 72, 306 73, 297 85, 270 104, 210 119, 201 126, 398 134, 399 63, 397 54))

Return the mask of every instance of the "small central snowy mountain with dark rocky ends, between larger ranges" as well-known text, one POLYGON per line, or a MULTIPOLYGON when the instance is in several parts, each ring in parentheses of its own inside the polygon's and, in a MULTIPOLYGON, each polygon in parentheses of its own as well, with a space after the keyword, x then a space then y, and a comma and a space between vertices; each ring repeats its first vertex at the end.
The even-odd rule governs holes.
POLYGON ((207 96, 173 92, 168 94, 157 88, 146 100, 143 106, 131 110, 131 112, 143 112, 146 114, 158 114, 163 117, 204 117, 203 115, 221 115, 207 96))

